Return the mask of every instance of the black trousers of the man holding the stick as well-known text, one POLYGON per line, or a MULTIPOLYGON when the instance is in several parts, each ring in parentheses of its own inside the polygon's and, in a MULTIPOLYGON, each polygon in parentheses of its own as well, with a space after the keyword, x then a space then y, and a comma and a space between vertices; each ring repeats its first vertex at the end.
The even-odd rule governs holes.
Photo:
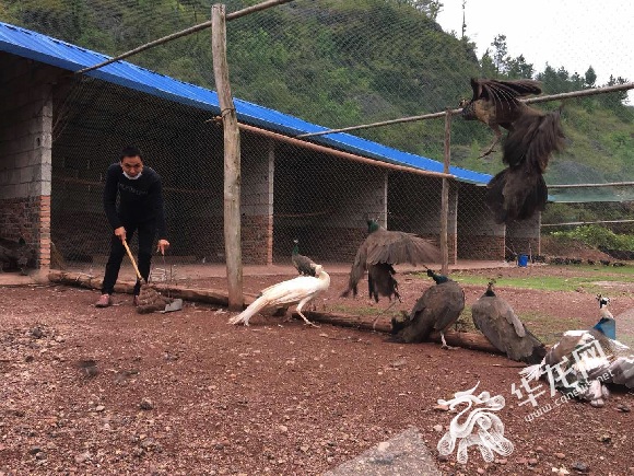
MULTIPOLYGON (((152 244, 156 235, 156 223, 154 221, 146 221, 141 223, 124 223, 126 229, 126 241, 130 243, 134 232, 139 232, 139 272, 148 280, 150 276, 150 264, 152 260, 152 244)), ((119 269, 121 262, 126 255, 126 248, 118 236, 113 234, 110 240, 110 256, 106 264, 106 274, 102 285, 102 294, 111 294, 115 289, 115 282, 119 277, 119 269)), ((139 295, 141 290, 141 282, 137 279, 134 285, 134 295, 139 295)))

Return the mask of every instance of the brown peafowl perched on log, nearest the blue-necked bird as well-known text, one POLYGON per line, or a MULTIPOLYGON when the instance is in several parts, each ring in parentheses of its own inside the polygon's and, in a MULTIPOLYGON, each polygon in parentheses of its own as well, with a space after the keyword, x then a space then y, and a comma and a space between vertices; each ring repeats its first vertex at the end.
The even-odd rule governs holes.
POLYGON ((510 360, 539 363, 545 356, 544 345, 521 323, 510 305, 493 291, 490 281, 486 292, 471 307, 473 324, 493 346, 510 360))

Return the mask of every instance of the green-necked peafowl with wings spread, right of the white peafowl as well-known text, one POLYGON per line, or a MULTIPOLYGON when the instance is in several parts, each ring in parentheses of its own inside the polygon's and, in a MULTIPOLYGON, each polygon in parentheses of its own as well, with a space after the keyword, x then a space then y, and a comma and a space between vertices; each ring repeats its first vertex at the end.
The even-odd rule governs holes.
POLYGON ((368 235, 361 244, 354 257, 348 288, 341 293, 347 298, 352 292, 357 294, 359 281, 367 270, 367 287, 371 299, 378 302, 379 297, 392 297, 400 301, 398 282, 394 278, 392 265, 409 263, 437 263, 441 252, 430 241, 402 231, 390 231, 380 227, 376 220, 367 220, 368 235))

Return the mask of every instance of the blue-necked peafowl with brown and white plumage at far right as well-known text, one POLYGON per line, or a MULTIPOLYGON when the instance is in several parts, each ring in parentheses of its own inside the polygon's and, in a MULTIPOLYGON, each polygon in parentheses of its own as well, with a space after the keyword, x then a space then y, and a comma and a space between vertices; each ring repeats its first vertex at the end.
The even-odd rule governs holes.
POLYGON ((586 330, 567 330, 538 364, 520 371, 524 379, 548 376, 561 392, 602 407, 610 395, 606 383, 634 388, 634 350, 615 339, 610 299, 597 294, 599 322, 586 330))

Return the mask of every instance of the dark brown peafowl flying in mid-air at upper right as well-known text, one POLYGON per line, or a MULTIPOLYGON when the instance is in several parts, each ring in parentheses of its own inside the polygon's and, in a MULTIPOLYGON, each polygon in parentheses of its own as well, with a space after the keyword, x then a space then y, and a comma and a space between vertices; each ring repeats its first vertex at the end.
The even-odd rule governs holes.
POLYGON ((462 100, 462 117, 486 124, 495 140, 481 155, 488 155, 508 130, 502 161, 508 165, 488 184, 486 205, 497 223, 526 220, 545 208, 548 187, 542 174, 553 152, 563 149, 561 108, 545 114, 527 106, 519 97, 540 94, 539 82, 471 78, 473 97, 462 100))

